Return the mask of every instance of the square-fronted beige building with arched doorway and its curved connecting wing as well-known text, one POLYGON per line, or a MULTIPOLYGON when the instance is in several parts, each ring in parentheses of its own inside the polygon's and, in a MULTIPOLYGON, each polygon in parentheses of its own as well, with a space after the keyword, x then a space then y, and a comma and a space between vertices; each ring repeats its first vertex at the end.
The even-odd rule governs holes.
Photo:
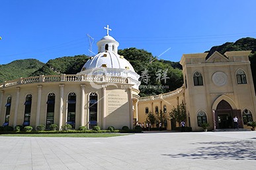
MULTIPOLYGON (((167 94, 140 98, 138 122, 145 122, 149 112, 155 114, 160 109, 168 117, 171 109, 183 101, 187 110, 186 123, 192 130, 202 130, 202 123, 209 123, 210 129, 233 128, 235 116, 239 128, 249 128, 247 122, 256 120, 250 52, 183 55, 180 62, 183 87, 167 94)), ((179 126, 175 121, 167 121, 167 129, 175 126, 179 126)))

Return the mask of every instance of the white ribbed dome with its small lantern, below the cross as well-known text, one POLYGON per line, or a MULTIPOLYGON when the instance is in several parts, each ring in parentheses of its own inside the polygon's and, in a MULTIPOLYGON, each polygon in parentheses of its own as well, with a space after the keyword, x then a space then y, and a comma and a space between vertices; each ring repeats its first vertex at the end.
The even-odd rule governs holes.
POLYGON ((99 53, 83 65, 81 72, 77 74, 97 74, 106 76, 130 77, 130 83, 138 89, 140 82, 138 75, 132 65, 124 59, 124 56, 118 55, 119 43, 111 36, 105 36, 97 42, 99 53))

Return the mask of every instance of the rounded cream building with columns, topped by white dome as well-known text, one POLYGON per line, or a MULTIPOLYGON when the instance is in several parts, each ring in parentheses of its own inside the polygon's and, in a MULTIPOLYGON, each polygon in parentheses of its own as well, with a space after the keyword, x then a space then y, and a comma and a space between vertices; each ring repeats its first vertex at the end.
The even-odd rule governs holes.
POLYGON ((140 77, 118 55, 111 36, 97 42, 99 53, 81 72, 72 75, 34 76, 0 84, 0 121, 3 126, 65 124, 117 129, 134 126, 140 77))

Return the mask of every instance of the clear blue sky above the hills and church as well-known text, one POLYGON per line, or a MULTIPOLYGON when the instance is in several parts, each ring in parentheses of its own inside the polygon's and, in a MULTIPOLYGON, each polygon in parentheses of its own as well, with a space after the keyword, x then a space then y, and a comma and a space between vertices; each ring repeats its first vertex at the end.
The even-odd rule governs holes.
POLYGON ((89 55, 87 34, 97 53, 107 24, 119 49, 136 47, 159 56, 171 47, 159 59, 179 61, 183 53, 256 38, 255 7, 254 0, 1 0, 0 64, 89 55))

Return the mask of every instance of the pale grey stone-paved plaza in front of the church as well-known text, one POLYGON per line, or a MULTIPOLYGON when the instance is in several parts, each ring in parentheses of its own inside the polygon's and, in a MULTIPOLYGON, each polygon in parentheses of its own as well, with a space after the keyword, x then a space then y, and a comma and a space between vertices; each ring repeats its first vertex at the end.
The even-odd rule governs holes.
POLYGON ((0 135, 0 169, 256 169, 256 131, 110 138, 0 135))

